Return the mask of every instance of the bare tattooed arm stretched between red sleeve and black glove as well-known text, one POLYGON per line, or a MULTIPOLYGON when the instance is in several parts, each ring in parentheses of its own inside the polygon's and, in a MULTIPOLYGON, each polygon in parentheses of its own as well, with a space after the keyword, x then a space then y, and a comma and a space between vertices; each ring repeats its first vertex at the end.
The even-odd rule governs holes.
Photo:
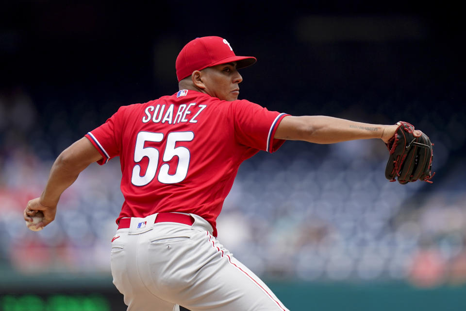
POLYGON ((286 116, 278 125, 274 138, 319 144, 368 138, 388 142, 397 128, 396 124, 368 124, 327 116, 286 116))

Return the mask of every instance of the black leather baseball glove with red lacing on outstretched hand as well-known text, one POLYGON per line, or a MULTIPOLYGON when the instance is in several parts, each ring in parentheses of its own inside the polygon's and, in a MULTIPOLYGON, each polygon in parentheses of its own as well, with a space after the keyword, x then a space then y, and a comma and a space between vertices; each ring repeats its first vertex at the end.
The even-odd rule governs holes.
POLYGON ((432 183, 433 143, 408 122, 399 121, 397 131, 386 144, 390 152, 385 177, 400 184, 423 180, 432 183))

